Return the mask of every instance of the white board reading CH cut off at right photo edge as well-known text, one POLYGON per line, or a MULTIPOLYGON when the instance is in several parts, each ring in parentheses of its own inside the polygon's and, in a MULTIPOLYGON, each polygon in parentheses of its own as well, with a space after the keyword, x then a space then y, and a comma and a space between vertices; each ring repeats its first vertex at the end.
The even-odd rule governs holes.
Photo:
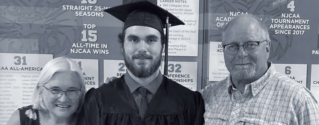
POLYGON ((310 91, 319 99, 319 64, 312 64, 311 65, 311 80, 310 80, 310 91))

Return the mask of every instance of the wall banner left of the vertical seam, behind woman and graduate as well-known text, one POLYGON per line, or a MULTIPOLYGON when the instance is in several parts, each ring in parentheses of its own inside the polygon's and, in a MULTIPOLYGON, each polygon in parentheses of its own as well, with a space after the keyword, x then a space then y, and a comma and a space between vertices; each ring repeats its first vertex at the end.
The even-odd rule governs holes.
MULTIPOLYGON (((37 80, 32 77, 38 77, 41 67, 51 59, 60 56, 73 59, 83 71, 87 90, 99 87, 108 77, 125 73, 117 40, 123 22, 103 10, 134 1, 0 0, 0 125, 6 124, 15 110, 31 104, 29 99, 36 81, 30 80, 37 80)), ((187 80, 179 80, 181 84, 193 91, 201 89, 202 76, 197 69, 202 67, 199 43, 203 43, 203 16, 200 18, 199 13, 204 11, 200 9, 203 2, 150 2, 186 24, 170 28, 168 60, 179 66, 171 66, 175 68, 174 75, 186 74, 183 79, 187 80)))

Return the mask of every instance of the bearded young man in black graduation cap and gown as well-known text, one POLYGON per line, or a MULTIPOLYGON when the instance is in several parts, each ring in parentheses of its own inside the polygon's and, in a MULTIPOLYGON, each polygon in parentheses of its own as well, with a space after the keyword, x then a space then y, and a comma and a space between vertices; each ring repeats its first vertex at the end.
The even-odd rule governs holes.
POLYGON ((147 1, 104 11, 125 22, 118 37, 128 70, 119 79, 86 93, 77 124, 203 124, 201 94, 168 79, 159 71, 165 45, 163 23, 167 16, 172 26, 184 23, 147 1))

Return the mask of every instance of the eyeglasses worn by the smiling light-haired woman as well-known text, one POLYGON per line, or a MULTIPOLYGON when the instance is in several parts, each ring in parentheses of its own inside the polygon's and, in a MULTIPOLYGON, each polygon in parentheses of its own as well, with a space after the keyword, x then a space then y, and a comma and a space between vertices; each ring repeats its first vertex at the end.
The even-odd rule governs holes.
POLYGON ((47 88, 43 86, 45 89, 48 90, 49 96, 54 99, 61 98, 62 94, 65 93, 66 97, 69 99, 76 99, 80 96, 81 90, 68 90, 68 91, 62 91, 55 88, 47 88))

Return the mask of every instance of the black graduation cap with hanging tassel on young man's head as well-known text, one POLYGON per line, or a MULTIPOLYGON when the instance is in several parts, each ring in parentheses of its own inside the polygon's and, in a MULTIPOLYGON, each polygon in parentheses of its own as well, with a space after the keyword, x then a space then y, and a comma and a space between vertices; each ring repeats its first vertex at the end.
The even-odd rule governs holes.
POLYGON ((148 26, 158 30, 161 34, 164 33, 163 25, 166 27, 165 39, 165 63, 164 75, 167 75, 167 58, 168 58, 168 27, 176 25, 184 25, 185 23, 175 17, 173 14, 163 8, 148 2, 139 1, 127 3, 115 7, 105 9, 112 16, 124 22, 123 31, 130 26, 148 26))

